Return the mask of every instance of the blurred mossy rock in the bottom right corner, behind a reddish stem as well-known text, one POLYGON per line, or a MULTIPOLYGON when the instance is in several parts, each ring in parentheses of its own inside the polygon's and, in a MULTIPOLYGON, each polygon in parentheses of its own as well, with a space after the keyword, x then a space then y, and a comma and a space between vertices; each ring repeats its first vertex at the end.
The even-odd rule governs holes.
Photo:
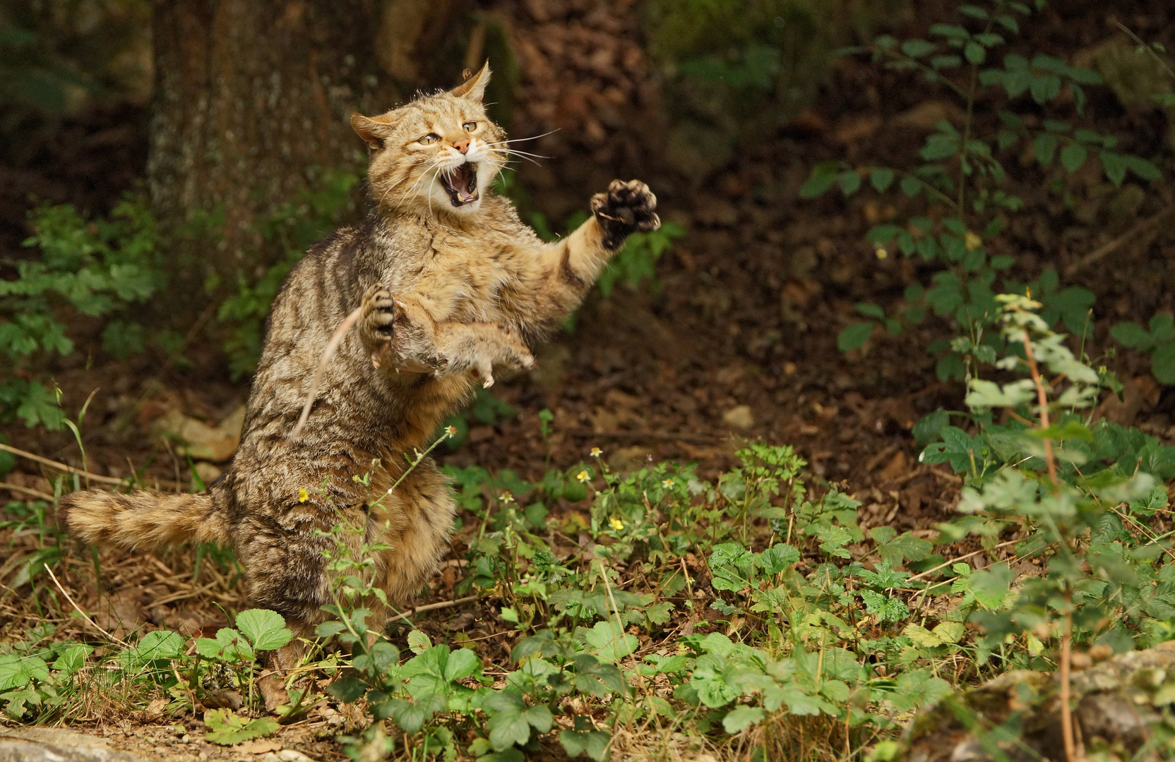
MULTIPOLYGON (((1132 758, 1148 740, 1168 737, 1162 729, 1168 712, 1162 708, 1175 700, 1175 641, 1119 654, 1075 672, 1069 683, 1074 722, 1086 747, 1120 749, 1121 758, 1132 758)), ((1059 687, 1054 673, 1016 670, 948 696, 906 726, 899 758, 992 762, 987 741, 1010 762, 1063 760, 1059 687), (994 728, 1012 721, 1022 730, 1006 741, 980 739, 960 722, 959 717, 968 715, 972 727, 994 728)), ((1159 748, 1141 758, 1167 758, 1173 748, 1170 741, 1159 741, 1159 748)))

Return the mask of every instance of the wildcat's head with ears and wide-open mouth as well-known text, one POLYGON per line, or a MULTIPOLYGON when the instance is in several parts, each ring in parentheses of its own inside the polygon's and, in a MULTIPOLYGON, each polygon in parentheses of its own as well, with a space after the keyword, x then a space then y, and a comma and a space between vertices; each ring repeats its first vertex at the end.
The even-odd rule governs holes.
POLYGON ((505 133, 485 115, 490 67, 463 85, 380 116, 351 116, 371 148, 368 178, 381 209, 476 215, 506 164, 505 133))

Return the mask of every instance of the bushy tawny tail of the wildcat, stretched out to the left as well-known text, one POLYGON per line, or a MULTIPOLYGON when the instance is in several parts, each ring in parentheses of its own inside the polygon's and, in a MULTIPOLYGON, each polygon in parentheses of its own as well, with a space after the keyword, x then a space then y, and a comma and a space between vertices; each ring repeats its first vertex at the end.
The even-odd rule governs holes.
POLYGON ((149 551, 167 545, 228 545, 228 517, 216 497, 154 492, 73 492, 58 504, 58 524, 89 545, 149 551))

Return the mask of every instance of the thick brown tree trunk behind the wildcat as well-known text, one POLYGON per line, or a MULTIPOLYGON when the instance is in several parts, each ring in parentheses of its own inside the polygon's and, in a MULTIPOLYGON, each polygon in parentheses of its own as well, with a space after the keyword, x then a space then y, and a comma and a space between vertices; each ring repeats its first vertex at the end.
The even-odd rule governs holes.
POLYGON ((189 276, 251 282, 280 254, 258 225, 317 169, 365 168, 350 113, 401 100, 375 55, 383 6, 160 0, 154 14, 152 204, 164 231, 202 222, 220 240, 188 251, 189 276))

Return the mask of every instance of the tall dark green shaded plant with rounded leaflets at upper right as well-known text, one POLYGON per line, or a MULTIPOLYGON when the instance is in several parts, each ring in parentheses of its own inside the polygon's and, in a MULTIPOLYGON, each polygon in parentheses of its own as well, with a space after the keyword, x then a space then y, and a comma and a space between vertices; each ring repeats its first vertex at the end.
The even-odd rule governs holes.
MULTIPOLYGON (((1039 9, 1043 2, 1036 0, 1035 5, 1039 9)), ((1102 82, 1096 72, 1043 53, 1005 53, 1001 62, 995 62, 1008 45, 1007 35, 1020 32, 1018 16, 1030 15, 1027 4, 993 0, 982 7, 962 4, 956 11, 961 23, 931 25, 929 39, 882 35, 871 46, 850 52, 870 52, 887 68, 922 73, 958 99, 965 114, 961 123, 939 122, 919 151, 924 163, 914 168, 824 162, 812 170, 800 195, 813 198, 839 187, 845 196, 852 196, 868 182, 879 194, 897 189, 925 203, 924 214, 909 217, 905 224, 878 224, 867 238, 879 257, 887 256, 893 245, 904 256, 918 256, 941 269, 929 284, 911 284, 904 302, 889 311, 874 303, 858 304, 858 312, 870 319, 844 329, 837 343, 842 351, 857 349, 879 326, 897 335, 933 313, 947 318, 962 336, 936 342, 927 351, 946 352, 936 367, 940 378, 961 380, 969 358, 987 359, 1001 349, 999 331, 989 330, 1000 315, 996 281, 1016 259, 993 250, 991 244, 1008 216, 1023 208, 1003 162, 1013 155, 1030 156, 1046 173, 1060 163, 1073 174, 1087 162, 1097 161, 1114 186, 1121 186, 1128 174, 1150 181, 1160 173, 1149 161, 1116 150, 1117 139, 1113 135, 1087 126, 1085 88, 1102 82), (1026 99, 1049 116, 1015 113, 1015 104, 1026 99), (999 124, 985 128, 976 119, 976 109, 1002 100, 1008 107, 999 110, 999 124), (1067 108, 1075 113, 1076 121, 1056 116, 1067 108)), ((1088 290, 1061 288, 1053 269, 1045 270, 1033 283, 1005 281, 1001 285, 1001 290, 1020 294, 1027 289, 1038 296, 1043 305, 1040 316, 1050 326, 1063 319, 1070 331, 1087 331, 1086 316, 1094 302, 1088 290)))

